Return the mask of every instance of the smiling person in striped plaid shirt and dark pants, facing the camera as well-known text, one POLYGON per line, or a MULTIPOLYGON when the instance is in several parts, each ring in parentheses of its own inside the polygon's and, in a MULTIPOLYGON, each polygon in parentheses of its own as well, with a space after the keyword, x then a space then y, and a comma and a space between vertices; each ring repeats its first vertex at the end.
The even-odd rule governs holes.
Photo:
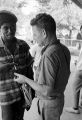
POLYGON ((13 80, 14 72, 32 78, 29 46, 15 37, 17 17, 0 11, 0 106, 2 120, 23 120, 24 108, 20 85, 13 80))

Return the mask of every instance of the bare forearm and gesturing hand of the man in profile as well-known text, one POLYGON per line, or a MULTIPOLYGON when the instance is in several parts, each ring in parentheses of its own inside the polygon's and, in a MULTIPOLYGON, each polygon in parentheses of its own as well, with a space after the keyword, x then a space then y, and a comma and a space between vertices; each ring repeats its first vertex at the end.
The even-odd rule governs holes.
POLYGON ((35 81, 33 81, 21 74, 18 74, 18 73, 15 73, 14 81, 16 81, 18 83, 27 83, 28 85, 31 86, 32 89, 34 89, 37 92, 40 92, 44 96, 49 96, 50 93, 52 92, 52 87, 49 87, 47 85, 38 84, 35 81))

